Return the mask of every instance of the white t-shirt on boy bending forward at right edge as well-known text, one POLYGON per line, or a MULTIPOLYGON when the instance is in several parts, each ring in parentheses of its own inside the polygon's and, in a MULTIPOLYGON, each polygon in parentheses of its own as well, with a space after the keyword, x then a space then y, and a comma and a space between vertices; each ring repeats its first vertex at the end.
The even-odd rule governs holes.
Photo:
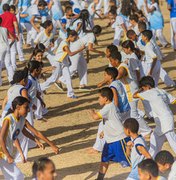
POLYGON ((174 130, 174 116, 168 106, 168 103, 175 101, 172 95, 169 95, 164 90, 152 88, 139 93, 139 97, 148 101, 151 106, 156 123, 154 131, 158 136, 174 130))

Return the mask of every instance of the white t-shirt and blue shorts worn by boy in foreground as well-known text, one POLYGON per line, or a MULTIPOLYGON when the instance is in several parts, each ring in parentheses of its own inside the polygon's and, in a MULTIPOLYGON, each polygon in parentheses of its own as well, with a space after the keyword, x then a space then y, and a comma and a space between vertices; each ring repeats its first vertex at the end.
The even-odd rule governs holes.
POLYGON ((130 166, 130 160, 125 152, 125 144, 129 141, 123 131, 120 115, 113 102, 106 104, 98 112, 103 119, 105 145, 102 152, 102 162, 118 162, 123 167, 130 166))

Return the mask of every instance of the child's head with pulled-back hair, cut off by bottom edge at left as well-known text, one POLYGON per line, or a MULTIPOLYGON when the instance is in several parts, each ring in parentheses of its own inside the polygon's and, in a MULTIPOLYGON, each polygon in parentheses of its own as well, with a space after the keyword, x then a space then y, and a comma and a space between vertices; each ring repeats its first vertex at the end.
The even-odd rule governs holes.
POLYGON ((33 177, 38 180, 54 180, 56 178, 56 169, 54 163, 46 158, 40 158, 32 166, 33 177))

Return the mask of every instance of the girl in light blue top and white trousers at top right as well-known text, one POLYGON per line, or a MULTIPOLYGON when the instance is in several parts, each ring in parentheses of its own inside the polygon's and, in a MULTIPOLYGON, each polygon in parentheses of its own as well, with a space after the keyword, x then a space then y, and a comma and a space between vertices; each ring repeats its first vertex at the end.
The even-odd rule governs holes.
POLYGON ((168 47, 168 42, 163 35, 164 19, 160 11, 158 0, 151 0, 149 6, 147 0, 145 0, 146 9, 149 13, 150 28, 153 32, 154 37, 158 38, 163 47, 168 47))

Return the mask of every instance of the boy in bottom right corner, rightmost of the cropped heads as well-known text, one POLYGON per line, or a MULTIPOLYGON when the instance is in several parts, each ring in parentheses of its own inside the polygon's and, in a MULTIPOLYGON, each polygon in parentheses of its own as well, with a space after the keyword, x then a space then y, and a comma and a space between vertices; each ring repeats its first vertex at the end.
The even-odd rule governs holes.
POLYGON ((174 162, 174 157, 169 151, 160 151, 156 155, 155 161, 160 172, 165 173, 170 170, 168 180, 176 179, 176 161, 174 162))

